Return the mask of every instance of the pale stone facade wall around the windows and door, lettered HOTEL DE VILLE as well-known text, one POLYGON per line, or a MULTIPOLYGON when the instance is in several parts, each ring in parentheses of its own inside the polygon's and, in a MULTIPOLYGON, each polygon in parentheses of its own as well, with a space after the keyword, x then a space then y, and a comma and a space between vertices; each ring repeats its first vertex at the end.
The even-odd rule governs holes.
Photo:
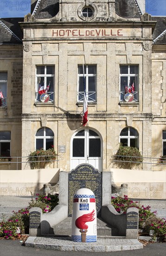
MULTIPOLYGON (((77 99, 78 66, 84 63, 96 65, 97 69, 96 101, 88 102, 89 121, 85 129, 95 131, 101 139, 99 170, 110 167, 111 156, 119 147, 120 133, 128 127, 138 132, 139 150, 144 157, 149 157, 141 168, 164 170, 165 166, 158 166, 157 160, 150 159, 162 155, 162 133, 166 130, 166 48, 153 43, 156 21, 150 15, 141 15, 139 5, 133 5, 131 17, 131 13, 121 9, 120 1, 115 0, 62 0, 59 4, 56 1, 59 11, 50 17, 50 13, 42 13, 42 4, 47 2, 40 1, 32 15, 28 14, 24 22, 19 23, 23 48, 15 46, 10 50, 10 58, 5 55, 9 54, 8 46, 2 49, 4 65, 0 71, 10 70, 12 79, 7 94, 10 104, 6 109, 0 108, 1 130, 15 127, 12 155, 17 150, 22 156, 34 151, 38 129, 47 127, 54 133, 54 146, 59 155, 56 167, 67 171, 75 168, 72 141, 83 128, 83 102, 77 99), (83 16, 84 7, 91 9, 91 17, 83 16), (136 101, 120 99, 121 65, 139 67, 136 101), (35 100, 37 66, 55 68, 53 101, 35 100), (5 113, 12 115, 11 121, 5 113), (59 146, 64 146, 64 152, 59 146), (147 163, 152 161, 153 164, 147 163)), ((132 5, 131 0, 125 7, 129 4, 132 5)), ((51 8, 49 3, 47 5, 51 8)), ((88 158, 85 156, 84 161, 88 158)), ((21 168, 29 166, 22 163, 21 168)))

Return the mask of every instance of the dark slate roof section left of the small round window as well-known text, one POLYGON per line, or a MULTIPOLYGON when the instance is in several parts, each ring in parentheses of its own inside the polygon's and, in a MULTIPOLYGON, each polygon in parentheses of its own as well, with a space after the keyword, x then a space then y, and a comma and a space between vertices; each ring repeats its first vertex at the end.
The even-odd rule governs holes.
POLYGON ((38 0, 32 12, 35 19, 51 19, 59 12, 58 0, 38 0))

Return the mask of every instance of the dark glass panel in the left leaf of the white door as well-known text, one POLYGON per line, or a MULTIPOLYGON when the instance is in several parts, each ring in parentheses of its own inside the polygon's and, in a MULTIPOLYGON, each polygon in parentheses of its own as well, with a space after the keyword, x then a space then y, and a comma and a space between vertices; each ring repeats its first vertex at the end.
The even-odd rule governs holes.
POLYGON ((84 139, 73 139, 73 157, 84 157, 84 139))

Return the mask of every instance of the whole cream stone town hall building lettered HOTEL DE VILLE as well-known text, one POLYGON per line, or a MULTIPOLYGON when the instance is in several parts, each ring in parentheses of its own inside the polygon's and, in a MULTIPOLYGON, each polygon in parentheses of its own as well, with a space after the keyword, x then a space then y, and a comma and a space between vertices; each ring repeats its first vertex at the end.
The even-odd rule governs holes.
POLYGON ((166 17, 143 0, 31 2, 0 19, 1 168, 30 169, 30 152, 53 146, 53 168, 102 172, 122 143, 141 169, 166 170, 166 17))

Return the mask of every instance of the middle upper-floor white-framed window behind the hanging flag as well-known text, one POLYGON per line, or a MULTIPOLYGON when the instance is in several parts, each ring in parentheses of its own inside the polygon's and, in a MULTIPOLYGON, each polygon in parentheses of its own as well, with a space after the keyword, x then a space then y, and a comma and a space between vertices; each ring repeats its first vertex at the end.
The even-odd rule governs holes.
POLYGON ((84 65, 83 79, 83 65, 78 66, 78 102, 83 102, 84 95, 84 81, 85 92, 88 102, 96 102, 96 65, 84 65))

